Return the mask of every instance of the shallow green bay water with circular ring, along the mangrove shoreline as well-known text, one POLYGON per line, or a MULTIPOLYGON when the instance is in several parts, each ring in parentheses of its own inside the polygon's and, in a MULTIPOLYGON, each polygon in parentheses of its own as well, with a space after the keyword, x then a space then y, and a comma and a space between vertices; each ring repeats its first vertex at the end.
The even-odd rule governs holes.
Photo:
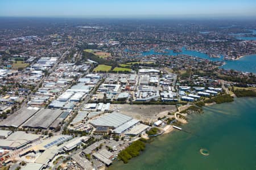
POLYGON ((128 164, 109 169, 256 169, 256 98, 205 107, 189 123, 154 138, 146 150, 128 164), (200 154, 200 148, 209 156, 200 154))

